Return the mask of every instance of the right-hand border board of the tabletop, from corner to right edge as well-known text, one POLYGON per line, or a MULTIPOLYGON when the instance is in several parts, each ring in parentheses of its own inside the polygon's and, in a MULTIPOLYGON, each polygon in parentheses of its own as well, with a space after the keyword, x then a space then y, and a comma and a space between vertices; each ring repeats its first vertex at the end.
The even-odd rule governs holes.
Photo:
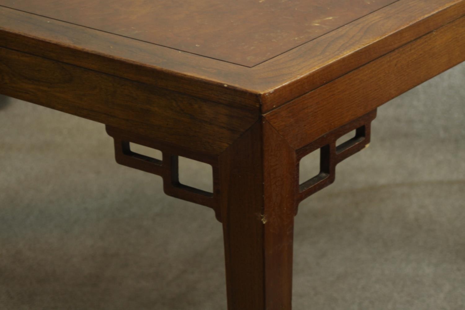
MULTIPOLYGON (((270 111, 465 15, 465 0, 392 5, 256 66, 270 111)), ((463 38, 462 38, 463 39, 463 38)))

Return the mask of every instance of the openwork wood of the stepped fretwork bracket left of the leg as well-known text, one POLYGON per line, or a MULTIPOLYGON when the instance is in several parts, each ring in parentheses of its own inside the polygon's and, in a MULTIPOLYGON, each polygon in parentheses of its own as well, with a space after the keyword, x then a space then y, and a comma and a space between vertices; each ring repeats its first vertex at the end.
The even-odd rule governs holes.
POLYGON ((216 218, 221 222, 218 197, 219 169, 216 157, 183 152, 177 147, 154 142, 152 139, 144 136, 110 126, 106 126, 106 132, 114 139, 115 159, 118 164, 161 176, 163 178, 163 191, 166 195, 212 208, 215 211, 216 218), (129 146, 130 142, 158 149, 163 154, 162 160, 132 152, 129 146), (202 191, 179 182, 178 156, 212 165, 213 193, 202 191))

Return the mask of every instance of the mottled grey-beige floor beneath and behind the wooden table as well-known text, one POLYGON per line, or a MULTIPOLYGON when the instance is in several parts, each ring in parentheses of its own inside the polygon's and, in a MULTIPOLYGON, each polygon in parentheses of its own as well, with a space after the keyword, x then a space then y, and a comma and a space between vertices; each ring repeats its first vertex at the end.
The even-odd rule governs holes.
MULTIPOLYGON (((114 163, 101 124, 12 99, 0 129, 0 310, 226 309, 212 211, 114 163)), ((465 309, 465 64, 372 131, 300 205, 294 309, 465 309)))

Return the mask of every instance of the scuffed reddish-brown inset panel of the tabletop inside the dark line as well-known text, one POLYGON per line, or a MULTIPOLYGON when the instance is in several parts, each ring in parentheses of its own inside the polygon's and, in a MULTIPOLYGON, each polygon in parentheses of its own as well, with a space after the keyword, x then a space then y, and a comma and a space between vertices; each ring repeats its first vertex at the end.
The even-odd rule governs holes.
POLYGON ((0 5, 254 66, 396 0, 0 0, 0 5))

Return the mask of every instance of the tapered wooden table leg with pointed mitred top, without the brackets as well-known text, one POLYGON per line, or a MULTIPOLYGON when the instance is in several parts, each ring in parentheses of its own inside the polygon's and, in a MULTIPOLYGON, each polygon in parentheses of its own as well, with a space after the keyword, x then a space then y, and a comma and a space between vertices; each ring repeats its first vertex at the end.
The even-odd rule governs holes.
POLYGON ((219 158, 228 310, 290 310, 295 152, 262 119, 219 158))

